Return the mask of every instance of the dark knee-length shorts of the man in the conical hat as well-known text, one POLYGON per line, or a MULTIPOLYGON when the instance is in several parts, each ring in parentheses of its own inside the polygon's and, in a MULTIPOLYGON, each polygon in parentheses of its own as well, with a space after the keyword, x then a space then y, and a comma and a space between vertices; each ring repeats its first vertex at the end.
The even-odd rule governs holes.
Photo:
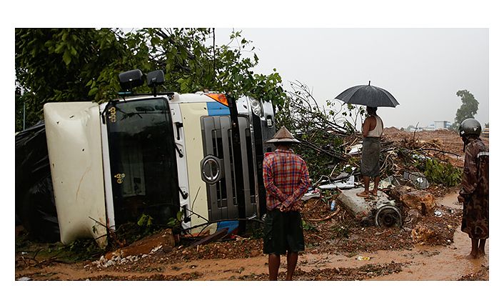
POLYGON ((305 240, 301 214, 296 211, 268 210, 266 219, 264 219, 263 239, 263 253, 265 254, 303 252, 305 240))

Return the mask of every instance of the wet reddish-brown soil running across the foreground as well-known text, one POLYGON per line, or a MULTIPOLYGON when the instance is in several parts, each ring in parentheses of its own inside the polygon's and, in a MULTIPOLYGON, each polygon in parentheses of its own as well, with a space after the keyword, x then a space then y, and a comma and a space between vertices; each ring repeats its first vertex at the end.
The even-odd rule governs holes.
MULTIPOLYGON (((318 202, 307 202, 312 208, 318 202)), ((325 204, 319 210, 326 211, 325 204)), ((295 280, 488 280, 487 254, 468 260, 470 239, 460 232, 461 205, 456 194, 438 200, 445 222, 442 236, 432 242, 414 243, 408 227, 382 229, 351 223, 343 210, 341 216, 323 222, 311 222, 305 231, 306 251, 298 259, 295 280), (451 211, 450 211, 451 210, 451 211), (338 235, 338 228, 348 228, 338 235), (441 241, 441 242, 440 242, 441 241)), ((330 213, 330 212, 328 212, 330 213)), ((325 213, 324 213, 325 214, 325 213)), ((322 215, 324 217, 324 215, 322 215)), ((310 217, 306 214, 306 220, 310 217)), ((425 217, 440 219, 443 217, 425 217)), ((406 226, 408 224, 405 224, 406 226)), ((198 247, 158 249, 138 260, 104 267, 95 261, 64 264, 41 262, 28 264, 26 254, 16 252, 15 279, 31 280, 248 280, 268 279, 267 256, 262 254, 261 239, 213 242, 198 247), (26 279, 26 278, 25 278, 26 279)), ((279 279, 285 277, 286 262, 281 258, 279 279)))

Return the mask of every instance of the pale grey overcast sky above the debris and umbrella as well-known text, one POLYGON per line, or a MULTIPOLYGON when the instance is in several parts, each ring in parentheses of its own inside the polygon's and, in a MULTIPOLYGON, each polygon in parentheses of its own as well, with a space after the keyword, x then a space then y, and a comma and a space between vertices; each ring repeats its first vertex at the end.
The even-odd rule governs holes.
MULTIPOLYGON (((488 29, 288 29, 246 28, 253 41, 257 73, 276 68, 288 89, 298 80, 318 102, 357 84, 387 89, 399 106, 380 108, 385 126, 428 126, 451 121, 460 107, 456 92, 467 89, 479 101, 475 118, 489 122, 488 29)), ((231 29, 216 29, 227 43, 231 29)))

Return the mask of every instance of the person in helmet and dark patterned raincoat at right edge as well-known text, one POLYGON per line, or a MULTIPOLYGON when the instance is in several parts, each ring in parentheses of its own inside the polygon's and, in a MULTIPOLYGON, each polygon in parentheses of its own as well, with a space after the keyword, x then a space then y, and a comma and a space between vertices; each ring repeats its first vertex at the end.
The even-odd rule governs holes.
POLYGON ((460 137, 464 142, 464 171, 458 195, 463 202, 463 232, 471 239, 468 259, 485 255, 488 239, 488 148, 480 139, 481 125, 475 119, 460 123, 460 137))

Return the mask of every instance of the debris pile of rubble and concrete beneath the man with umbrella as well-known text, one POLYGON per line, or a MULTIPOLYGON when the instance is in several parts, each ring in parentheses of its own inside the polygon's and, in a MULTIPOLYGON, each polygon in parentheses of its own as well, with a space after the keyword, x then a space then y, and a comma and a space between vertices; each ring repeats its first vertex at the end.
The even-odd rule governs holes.
MULTIPOLYGON (((384 135, 380 161, 382 181, 378 196, 366 199, 354 196, 362 191, 358 172, 361 138, 355 134, 344 137, 343 155, 331 172, 313 183, 311 191, 305 195, 305 209, 302 210, 306 222, 305 234, 313 241, 336 243, 338 250, 347 251, 351 251, 352 246, 348 239, 357 237, 357 233, 369 236, 364 245, 373 247, 371 250, 392 249, 397 242, 390 239, 391 234, 399 237, 398 242, 403 247, 414 244, 447 245, 453 242, 453 226, 460 224, 460 211, 440 209, 435 199, 455 192, 457 179, 443 182, 428 167, 449 166, 461 172, 463 152, 460 138, 453 131, 408 133, 395 128, 385 129, 384 135), (457 163, 459 169, 453 162, 457 163), (352 177, 351 181, 349 177, 352 177), (341 179, 346 179, 346 182, 342 183, 341 179), (336 208, 331 206, 334 200, 338 204, 336 208), (388 246, 386 242, 382 243, 383 239, 379 239, 384 227, 395 227, 389 232, 388 246), (375 228, 378 230, 373 231, 375 228), (367 231, 370 234, 367 235, 367 231), (331 235, 328 237, 326 234, 331 235), (370 242, 380 244, 373 245, 370 242)), ((323 155, 322 152, 320 154, 323 155)))

